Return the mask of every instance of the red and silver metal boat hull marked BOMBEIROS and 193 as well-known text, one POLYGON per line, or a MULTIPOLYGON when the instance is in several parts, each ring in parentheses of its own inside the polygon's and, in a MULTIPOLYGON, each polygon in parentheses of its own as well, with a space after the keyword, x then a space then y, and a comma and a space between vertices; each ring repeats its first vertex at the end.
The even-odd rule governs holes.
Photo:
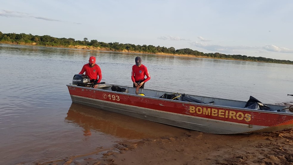
POLYGON ((293 115, 67 86, 74 103, 207 133, 252 133, 293 126, 293 115))

